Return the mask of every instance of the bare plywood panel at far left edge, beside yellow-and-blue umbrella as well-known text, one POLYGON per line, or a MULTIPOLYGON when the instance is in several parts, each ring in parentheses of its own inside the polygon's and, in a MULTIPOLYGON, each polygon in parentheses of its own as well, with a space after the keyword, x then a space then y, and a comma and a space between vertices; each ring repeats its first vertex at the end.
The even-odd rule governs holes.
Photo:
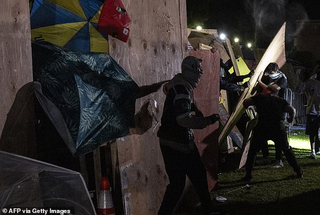
POLYGON ((0 134, 18 90, 32 81, 28 0, 3 0, 0 7, 0 134))

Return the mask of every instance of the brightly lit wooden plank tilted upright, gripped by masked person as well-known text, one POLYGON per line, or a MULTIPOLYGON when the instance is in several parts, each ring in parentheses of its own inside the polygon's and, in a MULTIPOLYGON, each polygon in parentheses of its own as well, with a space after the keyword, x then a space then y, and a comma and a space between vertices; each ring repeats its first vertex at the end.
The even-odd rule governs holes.
POLYGON ((229 135, 234 125, 241 118, 243 112, 245 111, 245 108, 242 104, 243 100, 253 95, 254 92, 252 90, 257 83, 257 79, 259 77, 260 72, 262 72, 270 62, 276 62, 279 65, 279 67, 282 67, 286 63, 285 28, 286 28, 286 23, 282 25, 277 35, 269 45, 268 49, 265 51, 263 57, 261 58, 259 64, 255 69, 254 75, 250 78, 251 86, 250 88, 246 88, 243 91, 242 96, 239 99, 239 102, 237 104, 237 107, 235 108, 234 112, 231 114, 222 133, 219 136, 219 143, 227 138, 227 136, 229 135))

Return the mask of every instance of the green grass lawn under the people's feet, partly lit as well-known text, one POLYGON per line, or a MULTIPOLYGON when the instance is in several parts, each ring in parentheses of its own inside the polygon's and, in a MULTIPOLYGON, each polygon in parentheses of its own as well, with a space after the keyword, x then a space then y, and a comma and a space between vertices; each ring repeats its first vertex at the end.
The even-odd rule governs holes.
MULTIPOLYGON (((296 179, 285 160, 284 167, 279 169, 271 165, 256 165, 253 182, 240 182, 245 175, 244 167, 238 168, 241 152, 236 150, 227 154, 219 165, 221 175, 217 189, 211 192, 218 211, 229 215, 320 214, 320 156, 316 160, 309 158, 309 138, 304 135, 304 130, 291 132, 290 145, 305 171, 302 179, 296 179), (217 196, 227 198, 227 202, 216 201, 217 196)), ((274 145, 270 144, 269 148, 274 158, 274 145)), ((257 159, 261 157, 258 154, 257 159)), ((197 211, 181 214, 200 214, 197 211)))

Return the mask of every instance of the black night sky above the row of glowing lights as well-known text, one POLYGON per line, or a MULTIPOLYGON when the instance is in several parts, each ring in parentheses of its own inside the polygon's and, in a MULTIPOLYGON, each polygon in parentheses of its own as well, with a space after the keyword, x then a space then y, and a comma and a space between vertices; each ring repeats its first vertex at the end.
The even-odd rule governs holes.
POLYGON ((301 26, 297 20, 320 19, 315 0, 187 0, 189 28, 218 29, 230 39, 239 37, 240 44, 254 41, 266 48, 284 22, 286 40, 292 40, 301 26))

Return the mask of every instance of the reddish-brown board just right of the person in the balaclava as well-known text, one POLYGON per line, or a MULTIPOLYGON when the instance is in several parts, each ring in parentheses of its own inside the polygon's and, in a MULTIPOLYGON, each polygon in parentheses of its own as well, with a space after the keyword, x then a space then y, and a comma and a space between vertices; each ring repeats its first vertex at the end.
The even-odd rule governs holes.
MULTIPOLYGON (((194 92, 194 99, 204 116, 219 113, 219 72, 220 54, 210 50, 191 51, 191 56, 202 59, 203 75, 194 92)), ((206 137, 216 131, 219 123, 205 127, 202 130, 194 130, 194 141, 197 145, 202 161, 207 169, 207 181, 209 190, 215 188, 218 181, 218 135, 212 136, 211 141, 204 141, 206 137)))

